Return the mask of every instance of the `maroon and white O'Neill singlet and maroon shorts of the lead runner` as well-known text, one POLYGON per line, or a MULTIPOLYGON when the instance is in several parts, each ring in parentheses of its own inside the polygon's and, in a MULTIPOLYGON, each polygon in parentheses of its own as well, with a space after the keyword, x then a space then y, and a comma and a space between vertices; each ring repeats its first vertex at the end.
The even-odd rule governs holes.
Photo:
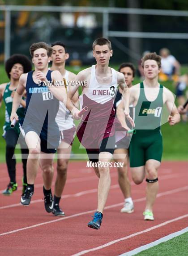
POLYGON ((80 107, 87 106, 81 123, 77 128, 77 137, 85 148, 99 148, 104 138, 115 135, 115 141, 126 136, 126 130, 115 118, 113 107, 114 97, 117 90, 117 74, 111 68, 112 80, 110 84, 99 84, 95 75, 95 65, 91 67, 90 85, 82 94, 80 107))

